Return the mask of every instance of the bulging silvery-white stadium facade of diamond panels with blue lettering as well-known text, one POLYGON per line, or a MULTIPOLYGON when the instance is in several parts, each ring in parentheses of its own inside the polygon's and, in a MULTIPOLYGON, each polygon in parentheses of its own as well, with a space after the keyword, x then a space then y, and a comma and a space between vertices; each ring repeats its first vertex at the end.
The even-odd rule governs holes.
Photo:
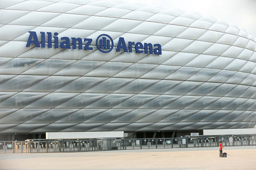
POLYGON ((92 0, 0 15, 0 134, 256 124, 255 38, 232 23, 92 0))

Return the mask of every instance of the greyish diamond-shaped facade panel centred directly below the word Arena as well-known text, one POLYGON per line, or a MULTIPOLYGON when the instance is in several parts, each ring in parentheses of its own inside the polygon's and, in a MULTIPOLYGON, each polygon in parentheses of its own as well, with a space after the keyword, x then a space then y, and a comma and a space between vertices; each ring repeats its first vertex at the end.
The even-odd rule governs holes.
POLYGON ((139 64, 135 63, 128 67, 127 69, 121 71, 120 73, 116 74, 114 77, 124 77, 124 78, 139 78, 140 76, 144 75, 145 73, 149 72, 157 65, 153 64, 139 64))

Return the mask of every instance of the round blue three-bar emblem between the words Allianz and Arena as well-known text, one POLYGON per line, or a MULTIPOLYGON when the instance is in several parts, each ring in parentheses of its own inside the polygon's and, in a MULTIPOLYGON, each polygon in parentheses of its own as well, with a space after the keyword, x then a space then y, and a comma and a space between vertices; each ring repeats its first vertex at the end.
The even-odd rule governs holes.
POLYGON ((96 39, 97 48, 103 53, 109 53, 114 47, 113 39, 107 34, 101 34, 96 39), (101 39, 100 39, 101 38, 101 39), (100 40, 99 40, 100 39, 100 40), (111 41, 111 42, 110 42, 111 41), (100 45, 99 45, 100 42, 100 45), (111 45, 110 45, 111 44, 111 45))

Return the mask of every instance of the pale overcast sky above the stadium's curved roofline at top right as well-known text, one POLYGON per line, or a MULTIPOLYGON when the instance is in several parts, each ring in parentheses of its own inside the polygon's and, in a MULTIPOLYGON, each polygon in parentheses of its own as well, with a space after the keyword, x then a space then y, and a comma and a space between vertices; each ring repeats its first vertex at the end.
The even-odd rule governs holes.
POLYGON ((127 0, 130 3, 145 3, 150 6, 164 6, 168 9, 182 9, 199 12, 203 16, 224 19, 244 28, 256 38, 255 0, 127 0))

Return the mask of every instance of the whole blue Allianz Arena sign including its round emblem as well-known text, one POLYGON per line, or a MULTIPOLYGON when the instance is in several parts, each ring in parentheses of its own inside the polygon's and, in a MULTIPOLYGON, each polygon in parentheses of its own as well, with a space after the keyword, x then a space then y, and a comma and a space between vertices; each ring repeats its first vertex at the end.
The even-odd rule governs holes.
MULTIPOLYGON (((88 39, 84 38, 83 40, 81 38, 74 38, 72 37, 71 39, 68 37, 61 37, 60 40, 61 42, 59 43, 59 38, 58 38, 58 33, 54 33, 53 39, 54 43, 52 44, 52 33, 50 32, 40 32, 41 34, 41 46, 38 40, 37 33, 34 31, 29 31, 29 38, 27 41, 26 47, 30 47, 31 44, 34 44, 36 47, 41 47, 45 48, 46 47, 46 34, 48 38, 48 48, 52 48, 54 45, 54 48, 62 48, 62 49, 76 49, 76 45, 78 45, 79 50, 93 50, 93 48, 90 46, 91 43, 93 42, 93 39, 88 39), (72 41, 72 47, 70 42, 72 41), (84 42, 84 47, 83 43, 84 42)), ((113 50, 114 48, 114 41, 113 39, 107 35, 107 34, 101 34, 100 36, 97 37, 96 39, 96 46, 99 51, 102 53, 109 53, 113 50)), ((162 49, 160 44, 154 44, 152 45, 151 43, 144 43, 142 44, 141 42, 128 42, 128 46, 124 40, 123 37, 119 37, 118 44, 116 47, 116 51, 120 52, 121 49, 126 52, 126 53, 132 53, 132 49, 135 49, 136 53, 145 53, 145 54, 156 54, 156 55, 161 55, 162 54, 162 49)))

